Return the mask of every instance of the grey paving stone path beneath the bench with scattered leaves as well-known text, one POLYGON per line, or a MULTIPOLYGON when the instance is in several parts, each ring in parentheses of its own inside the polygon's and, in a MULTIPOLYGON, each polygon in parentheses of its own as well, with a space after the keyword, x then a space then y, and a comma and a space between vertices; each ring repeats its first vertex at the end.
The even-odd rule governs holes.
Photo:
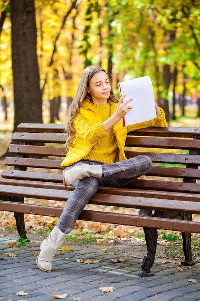
MULTIPOLYGON (((85 246, 73 246, 71 251, 57 252, 53 271, 37 268, 33 251, 39 252, 39 242, 29 242, 17 248, 8 248, 14 242, 9 237, 0 238, 0 300, 21 301, 55 300, 53 295, 67 294, 64 300, 78 301, 197 301, 200 300, 200 265, 183 267, 165 264, 157 259, 152 272, 155 276, 139 278, 141 258, 85 246), (17 257, 7 257, 12 252, 17 257), (89 253, 88 253, 89 252, 89 253), (76 259, 99 260, 99 263, 78 263, 76 259), (126 258, 124 263, 112 263, 110 259, 126 258), (188 282, 194 279, 197 283, 188 282), (113 292, 102 293, 100 288, 113 286, 113 292), (25 296, 16 295, 24 291, 25 296), (79 298, 79 299, 78 299, 79 298)), ((143 254, 142 254, 143 255, 143 254)))

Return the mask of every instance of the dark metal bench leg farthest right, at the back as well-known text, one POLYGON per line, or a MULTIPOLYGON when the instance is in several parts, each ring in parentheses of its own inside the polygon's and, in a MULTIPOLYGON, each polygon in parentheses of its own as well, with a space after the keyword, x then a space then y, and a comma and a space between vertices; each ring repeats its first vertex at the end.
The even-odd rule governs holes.
MULTIPOLYGON (((185 214, 184 219, 191 221, 192 214, 185 214)), ((192 260, 192 251, 191 251, 191 233, 182 232, 182 240, 183 240, 183 251, 185 261, 181 262, 182 265, 194 265, 195 262, 192 260)))

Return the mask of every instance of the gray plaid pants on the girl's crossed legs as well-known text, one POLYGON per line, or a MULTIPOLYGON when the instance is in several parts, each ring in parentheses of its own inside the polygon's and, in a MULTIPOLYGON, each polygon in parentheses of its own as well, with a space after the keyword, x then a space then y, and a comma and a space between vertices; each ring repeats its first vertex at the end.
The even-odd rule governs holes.
POLYGON ((65 169, 71 169, 74 166, 82 165, 84 163, 89 165, 101 164, 103 176, 101 178, 87 177, 72 183, 75 190, 68 198, 66 206, 57 223, 57 227, 65 234, 68 234, 73 230, 74 224, 80 213, 95 195, 99 186, 122 187, 140 176, 145 175, 152 165, 150 157, 139 155, 111 164, 83 159, 65 169))

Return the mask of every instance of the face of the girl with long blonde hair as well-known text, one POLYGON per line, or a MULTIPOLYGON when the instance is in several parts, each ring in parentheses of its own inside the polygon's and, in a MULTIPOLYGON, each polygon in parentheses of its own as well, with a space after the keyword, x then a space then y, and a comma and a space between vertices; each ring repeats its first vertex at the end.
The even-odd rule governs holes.
POLYGON ((88 92, 91 94, 93 103, 107 103, 110 91, 109 79, 104 71, 96 73, 89 82, 88 92))

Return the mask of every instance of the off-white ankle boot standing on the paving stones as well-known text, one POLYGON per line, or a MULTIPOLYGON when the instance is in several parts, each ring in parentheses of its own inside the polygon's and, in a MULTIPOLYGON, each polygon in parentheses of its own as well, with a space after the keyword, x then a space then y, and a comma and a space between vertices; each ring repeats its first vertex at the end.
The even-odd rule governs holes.
POLYGON ((59 246, 64 242, 64 234, 57 226, 50 235, 41 243, 40 253, 37 256, 37 266, 45 272, 52 271, 52 261, 59 246))

